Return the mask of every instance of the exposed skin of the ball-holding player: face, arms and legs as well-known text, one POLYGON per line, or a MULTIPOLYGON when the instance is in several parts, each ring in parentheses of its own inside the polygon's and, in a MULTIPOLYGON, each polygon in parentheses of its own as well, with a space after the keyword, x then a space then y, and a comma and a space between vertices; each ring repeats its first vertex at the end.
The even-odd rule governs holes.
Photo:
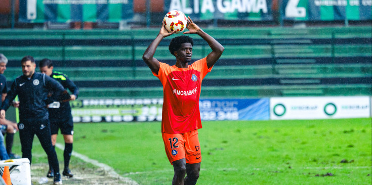
MULTIPOLYGON (((187 29, 189 31, 183 32, 183 34, 198 34, 201 38, 203 38, 211 47, 212 52, 206 56, 206 65, 208 68, 211 68, 217 60, 221 57, 225 48, 212 36, 205 33, 202 29, 199 28, 191 19, 187 17, 187 29)), ((157 46, 159 45, 160 41, 172 34, 176 31, 169 33, 167 29, 164 27, 164 23, 162 23, 161 29, 159 34, 156 38, 152 41, 149 47, 146 49, 145 53, 142 56, 142 59, 145 61, 147 66, 151 69, 152 72, 155 74, 159 73, 160 64, 157 59, 154 58, 154 54, 156 51, 157 46)), ((174 52, 176 56, 176 66, 179 68, 187 68, 189 62, 191 62, 192 57, 192 45, 191 43, 182 43, 177 51, 174 52)), ((200 171, 200 163, 195 164, 187 164, 186 159, 180 159, 177 161, 173 161, 173 168, 174 168, 174 176, 172 184, 196 184, 197 179, 199 178, 199 171, 200 171), (186 177, 185 177, 186 175, 186 177)))

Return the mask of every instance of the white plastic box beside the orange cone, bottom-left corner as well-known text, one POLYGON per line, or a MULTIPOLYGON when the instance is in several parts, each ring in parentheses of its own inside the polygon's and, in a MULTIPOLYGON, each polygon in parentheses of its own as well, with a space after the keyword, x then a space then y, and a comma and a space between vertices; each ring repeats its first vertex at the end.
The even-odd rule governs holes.
POLYGON ((27 158, 22 159, 12 159, 13 162, 0 161, 0 167, 4 171, 4 166, 15 166, 10 170, 10 180, 13 185, 31 185, 31 170, 30 161, 27 158))

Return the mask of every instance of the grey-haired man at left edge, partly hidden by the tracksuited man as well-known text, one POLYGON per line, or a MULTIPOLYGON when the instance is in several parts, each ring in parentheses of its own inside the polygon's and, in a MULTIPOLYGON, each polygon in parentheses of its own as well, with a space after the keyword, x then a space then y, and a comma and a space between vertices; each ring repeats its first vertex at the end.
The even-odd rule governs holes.
MULTIPOLYGON (((0 54, 0 91, 2 93, 2 102, 4 101, 8 93, 7 79, 3 75, 4 71, 7 69, 7 64, 7 57, 5 57, 3 54, 0 54)), ((9 121, 7 119, 0 119, 0 124, 6 125, 4 132, 2 129, 2 134, 7 134, 7 136, 5 137, 5 143, 7 144, 6 150, 9 158, 20 158, 20 156, 12 152, 14 133, 18 130, 17 123, 9 121)))

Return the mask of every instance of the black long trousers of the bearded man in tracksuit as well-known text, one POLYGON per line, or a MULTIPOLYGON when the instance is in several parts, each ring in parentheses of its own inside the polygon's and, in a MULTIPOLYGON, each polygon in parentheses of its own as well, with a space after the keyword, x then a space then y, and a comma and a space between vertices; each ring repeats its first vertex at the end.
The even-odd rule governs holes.
POLYGON ((47 153, 48 155, 48 161, 50 162, 50 165, 53 167, 55 172, 59 172, 57 154, 54 147, 52 146, 49 119, 42 119, 32 122, 23 121, 18 123, 18 128, 22 146, 22 158, 28 158, 31 164, 32 142, 33 137, 36 134, 45 153, 47 153))

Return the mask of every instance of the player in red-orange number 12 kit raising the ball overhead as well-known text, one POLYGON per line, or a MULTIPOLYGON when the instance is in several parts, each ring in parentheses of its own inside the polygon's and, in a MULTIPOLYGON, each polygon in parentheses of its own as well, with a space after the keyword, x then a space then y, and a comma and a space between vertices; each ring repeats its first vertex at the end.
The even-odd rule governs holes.
POLYGON ((224 47, 205 33, 188 17, 183 34, 198 34, 210 45, 212 52, 191 63, 193 40, 178 36, 169 44, 169 51, 176 57, 170 66, 153 56, 160 41, 169 33, 162 23, 159 34, 149 45, 142 58, 163 85, 161 132, 169 161, 173 164, 172 184, 195 184, 200 171, 201 147, 197 129, 201 128, 199 97, 201 81, 221 57, 224 47), (185 177, 186 174, 186 177, 185 177))

